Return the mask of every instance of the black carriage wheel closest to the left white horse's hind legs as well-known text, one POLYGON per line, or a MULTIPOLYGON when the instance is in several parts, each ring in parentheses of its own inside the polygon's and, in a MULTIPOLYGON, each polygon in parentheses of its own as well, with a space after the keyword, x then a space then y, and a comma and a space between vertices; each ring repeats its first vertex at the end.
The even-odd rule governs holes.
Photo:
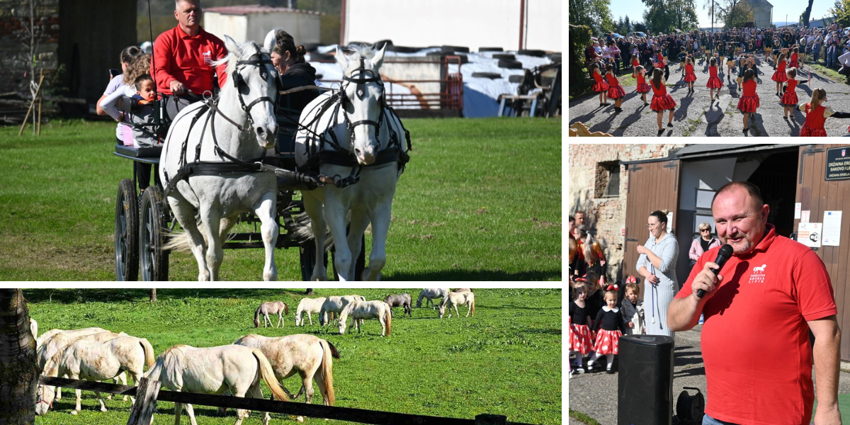
POLYGON ((168 219, 164 211, 162 190, 149 186, 142 196, 141 224, 139 226, 139 252, 141 254, 142 280, 168 280, 168 252, 165 231, 168 219))

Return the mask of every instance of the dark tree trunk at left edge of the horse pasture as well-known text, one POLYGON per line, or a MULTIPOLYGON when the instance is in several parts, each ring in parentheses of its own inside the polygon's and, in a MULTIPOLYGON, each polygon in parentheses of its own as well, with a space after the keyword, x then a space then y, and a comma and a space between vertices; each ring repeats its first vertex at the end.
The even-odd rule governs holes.
POLYGON ((20 289, 0 289, 0 425, 36 422, 36 340, 20 289))

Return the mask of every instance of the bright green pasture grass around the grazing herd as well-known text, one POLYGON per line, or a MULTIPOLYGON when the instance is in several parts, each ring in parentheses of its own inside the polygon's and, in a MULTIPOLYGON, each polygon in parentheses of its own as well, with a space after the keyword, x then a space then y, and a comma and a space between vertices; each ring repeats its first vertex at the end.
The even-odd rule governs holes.
MULTIPOLYGON (((357 293, 382 298, 404 289, 319 289, 319 296, 357 293)), ((358 335, 335 328, 296 328, 292 314, 303 290, 161 289, 157 303, 144 289, 25 290, 39 332, 53 328, 105 327, 146 337, 157 354, 178 343, 211 347, 233 343, 249 333, 282 336, 311 333, 333 343, 342 358, 334 360, 337 405, 376 411, 473 418, 480 413, 506 415, 508 421, 559 424, 561 392, 561 291, 559 289, 477 289, 476 314, 439 320, 429 308, 413 309, 413 318, 393 320, 392 335, 380 336, 377 320, 367 320, 358 335), (291 306, 283 328, 252 325, 260 302, 280 300, 291 306)), ((415 301, 414 301, 415 303, 415 301)), ((463 308, 462 310, 465 310, 463 308)), ((462 311, 466 314, 466 311, 462 311)), ((284 382, 296 392, 299 378, 284 382)), ((268 388, 263 394, 269 394, 268 388)), ((300 399, 303 402, 303 397, 300 399)), ((130 403, 106 400, 100 412, 94 393, 83 392, 82 412, 71 416, 74 397, 66 390, 54 411, 38 416, 37 425, 114 425, 126 423, 130 403)), ((314 403, 321 403, 318 390, 314 403)), ((235 412, 216 416, 212 407, 195 406, 204 425, 235 421, 235 412)), ((246 425, 258 424, 253 413, 246 425)), ((272 415, 272 423, 295 423, 272 415)), ((307 422, 329 425, 350 422, 307 422)), ((173 404, 162 402, 155 423, 173 423, 173 404)), ((181 417, 188 424, 189 418, 181 417)))

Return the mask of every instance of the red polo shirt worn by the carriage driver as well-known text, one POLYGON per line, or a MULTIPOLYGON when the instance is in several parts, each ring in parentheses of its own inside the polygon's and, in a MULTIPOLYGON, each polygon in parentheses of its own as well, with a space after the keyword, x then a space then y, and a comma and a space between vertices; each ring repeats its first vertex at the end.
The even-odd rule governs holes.
POLYGON ((183 82, 194 94, 212 92, 212 73, 218 73, 218 87, 227 81, 227 65, 212 69, 212 61, 224 58, 227 48, 220 38, 201 28, 196 36, 187 35, 180 26, 156 37, 151 75, 156 79, 156 90, 172 94, 169 84, 183 82), (154 70, 156 65, 156 70, 154 70))

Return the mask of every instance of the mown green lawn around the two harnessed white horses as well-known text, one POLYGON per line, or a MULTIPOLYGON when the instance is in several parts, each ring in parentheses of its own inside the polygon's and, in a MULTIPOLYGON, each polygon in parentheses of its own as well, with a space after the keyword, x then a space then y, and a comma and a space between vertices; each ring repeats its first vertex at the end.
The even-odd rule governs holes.
MULTIPOLYGON (((560 280, 561 120, 409 119, 383 278, 560 280)), ((115 201, 132 163, 114 124, 52 122, 42 136, 0 127, 0 280, 115 280, 115 201)), ((367 245, 371 243, 366 235, 367 245)), ((300 279, 297 251, 275 254, 300 279)), ((188 253, 171 280, 196 280, 188 253)), ((223 280, 262 279, 261 250, 225 250, 223 280)))

